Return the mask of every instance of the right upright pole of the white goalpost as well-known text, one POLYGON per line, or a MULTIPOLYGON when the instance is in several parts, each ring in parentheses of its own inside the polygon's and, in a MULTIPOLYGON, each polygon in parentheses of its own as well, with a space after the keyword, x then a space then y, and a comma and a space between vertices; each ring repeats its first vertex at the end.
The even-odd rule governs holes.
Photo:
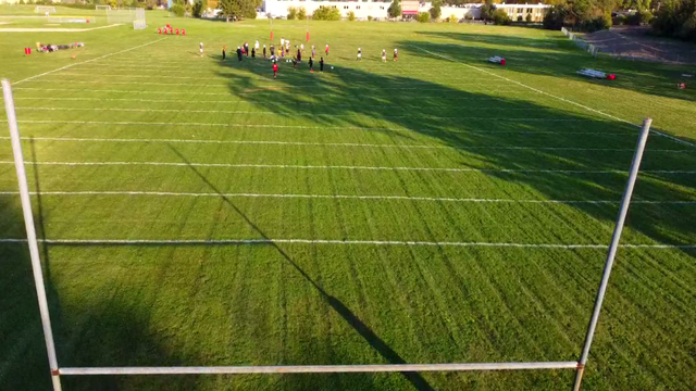
POLYGON ((643 160, 643 151, 645 151, 645 143, 648 140, 650 134, 651 118, 645 118, 643 121, 643 128, 638 136, 638 144, 633 155, 633 162, 631 163, 631 171, 629 172, 629 181, 623 192, 623 199, 621 200, 621 206, 619 209, 619 217, 617 218, 617 226, 613 229, 611 237, 611 244, 609 245, 609 253, 607 254, 607 262, 605 263, 605 272, 601 275, 601 282, 599 283, 599 290, 597 291, 597 299, 595 300, 595 310, 589 320, 589 327, 587 328, 587 336, 585 337, 585 345, 583 346, 583 353, 580 356, 577 365, 577 373, 575 374, 575 383, 573 386, 574 391, 579 391, 583 374, 585 371, 585 364, 587 364, 587 356, 589 355, 589 346, 592 340, 595 337, 595 330, 597 323, 599 321, 599 313, 601 312, 601 303, 605 300, 605 293, 607 292, 607 285, 609 283, 609 276, 611 275, 611 268, 613 266, 613 260, 617 255, 617 249, 619 248, 619 241, 621 240, 621 232, 623 231, 623 224, 626 220, 626 214, 629 213, 629 205, 631 205, 631 195, 633 195, 633 187, 635 180, 638 177, 638 168, 641 168, 641 161, 643 160))

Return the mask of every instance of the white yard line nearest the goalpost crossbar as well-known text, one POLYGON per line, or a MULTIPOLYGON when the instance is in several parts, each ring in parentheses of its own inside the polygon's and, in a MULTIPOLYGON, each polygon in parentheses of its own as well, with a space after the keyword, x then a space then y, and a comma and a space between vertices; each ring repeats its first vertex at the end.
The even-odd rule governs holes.
MULTIPOLYGON (((606 249, 607 244, 511 243, 511 242, 438 242, 408 240, 333 240, 333 239, 37 239, 47 244, 344 244, 344 245, 422 245, 486 247, 523 249, 606 249)), ((25 243, 26 239, 3 238, 2 243, 25 243)), ((696 249, 696 244, 619 244, 623 249, 696 249)))

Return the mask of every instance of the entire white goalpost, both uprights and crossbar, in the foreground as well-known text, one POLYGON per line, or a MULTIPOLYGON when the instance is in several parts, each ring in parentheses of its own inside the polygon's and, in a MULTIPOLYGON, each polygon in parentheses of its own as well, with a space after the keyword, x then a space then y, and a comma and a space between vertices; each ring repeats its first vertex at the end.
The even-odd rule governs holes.
POLYGON ((64 367, 58 364, 51 319, 48 308, 46 288, 41 262, 38 251, 38 240, 34 227, 34 215, 29 199, 28 184, 24 169, 24 157, 22 143, 14 111, 14 101, 10 81, 2 80, 5 111, 10 125, 12 140, 12 151, 20 185, 20 197, 22 199, 22 211, 27 234, 27 243, 32 258, 32 270, 34 273, 34 283, 38 297, 39 312, 41 315, 41 326, 44 338, 48 351, 48 361, 53 381, 53 391, 61 391, 60 376, 88 376, 88 375, 195 375, 195 374, 326 374, 326 373, 406 373, 406 371, 464 371, 464 370, 522 370, 522 369, 574 369, 575 382, 573 390, 577 391, 582 384, 585 365, 589 355, 593 338, 596 331, 599 314, 604 303, 605 293, 609 283, 609 277, 613 266, 617 249, 621 239, 621 234, 625 223, 633 188, 637 179, 643 152, 650 131, 651 119, 646 118, 638 137, 635 154, 629 172, 629 180, 623 192, 617 225, 613 230, 611 243, 608 249, 607 261, 601 277, 601 282, 595 300, 593 315, 587 327, 587 335, 582 350, 582 355, 577 362, 529 362, 529 363, 448 363, 448 364, 384 364, 384 365, 288 365, 288 366, 186 366, 186 367, 64 367))

